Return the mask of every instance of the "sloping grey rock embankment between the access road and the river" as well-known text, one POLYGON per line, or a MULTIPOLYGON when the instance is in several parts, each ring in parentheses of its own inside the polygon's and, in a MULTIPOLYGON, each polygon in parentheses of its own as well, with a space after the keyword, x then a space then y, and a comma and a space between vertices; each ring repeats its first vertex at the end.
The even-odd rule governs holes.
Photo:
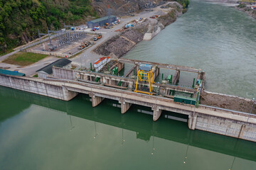
POLYGON ((122 57, 138 42, 154 38, 154 36, 164 29, 165 26, 176 21, 177 16, 180 14, 181 11, 174 8, 169 11, 169 13, 164 16, 160 16, 155 21, 146 19, 143 23, 135 26, 134 28, 128 28, 122 33, 106 40, 101 45, 98 45, 93 52, 103 56, 112 54, 115 57, 122 57))

